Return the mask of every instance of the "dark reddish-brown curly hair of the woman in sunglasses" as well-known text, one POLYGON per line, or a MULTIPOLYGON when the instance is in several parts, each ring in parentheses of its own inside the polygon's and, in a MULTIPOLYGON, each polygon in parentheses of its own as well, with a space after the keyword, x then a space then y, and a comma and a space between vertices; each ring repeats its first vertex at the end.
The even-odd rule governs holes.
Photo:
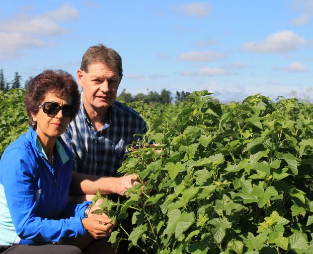
POLYGON ((56 96, 70 96, 72 105, 77 109, 76 114, 78 113, 80 93, 74 77, 61 69, 45 70, 32 78, 26 88, 25 107, 28 124, 34 129, 36 129, 36 122, 34 122, 31 114, 36 115, 38 113, 39 108, 37 106, 42 103, 48 93, 53 93, 56 96))

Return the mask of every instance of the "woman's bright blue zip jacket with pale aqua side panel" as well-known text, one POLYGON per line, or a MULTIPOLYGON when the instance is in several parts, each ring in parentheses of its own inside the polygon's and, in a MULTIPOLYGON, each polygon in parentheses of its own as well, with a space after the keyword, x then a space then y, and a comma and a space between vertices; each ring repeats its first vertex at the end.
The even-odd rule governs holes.
POLYGON ((73 155, 56 141, 54 166, 33 128, 18 137, 0 160, 0 245, 58 242, 85 235, 88 203, 68 204, 73 155), (31 240, 31 241, 27 241, 31 240))

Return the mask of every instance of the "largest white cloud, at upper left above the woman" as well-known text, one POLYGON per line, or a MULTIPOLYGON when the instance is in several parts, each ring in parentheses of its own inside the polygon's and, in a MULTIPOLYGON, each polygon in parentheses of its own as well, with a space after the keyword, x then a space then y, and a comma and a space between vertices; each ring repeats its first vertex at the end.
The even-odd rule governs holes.
POLYGON ((19 14, 0 21, 0 60, 16 59, 23 49, 51 47, 57 36, 68 33, 56 22, 68 22, 78 16, 69 4, 37 15, 19 14))

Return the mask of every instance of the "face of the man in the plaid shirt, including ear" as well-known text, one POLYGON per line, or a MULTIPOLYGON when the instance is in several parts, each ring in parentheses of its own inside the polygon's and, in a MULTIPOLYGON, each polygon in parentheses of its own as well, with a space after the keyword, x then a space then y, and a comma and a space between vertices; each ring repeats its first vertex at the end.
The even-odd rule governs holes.
POLYGON ((85 108, 93 110, 108 108, 115 99, 121 78, 118 69, 106 64, 90 64, 87 72, 78 69, 77 78, 83 88, 82 101, 85 108))

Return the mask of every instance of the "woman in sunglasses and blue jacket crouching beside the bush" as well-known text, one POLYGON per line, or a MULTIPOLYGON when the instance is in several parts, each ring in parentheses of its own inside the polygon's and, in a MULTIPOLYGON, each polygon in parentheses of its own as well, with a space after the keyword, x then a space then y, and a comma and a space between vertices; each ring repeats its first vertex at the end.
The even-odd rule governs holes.
POLYGON ((88 250, 113 228, 107 217, 88 216, 90 201, 67 202, 73 156, 60 135, 76 116, 79 98, 77 83, 62 70, 46 70, 28 83, 30 128, 0 160, 0 245, 12 246, 3 253, 81 253, 55 243, 73 239, 88 250))

